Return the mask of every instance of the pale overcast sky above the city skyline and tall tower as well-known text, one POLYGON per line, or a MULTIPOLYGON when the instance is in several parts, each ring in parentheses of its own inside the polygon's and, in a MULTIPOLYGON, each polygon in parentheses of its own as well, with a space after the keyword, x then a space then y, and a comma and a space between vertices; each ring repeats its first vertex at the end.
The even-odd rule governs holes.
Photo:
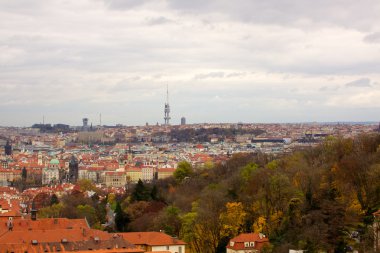
POLYGON ((0 0, 0 125, 378 121, 378 0, 0 0))

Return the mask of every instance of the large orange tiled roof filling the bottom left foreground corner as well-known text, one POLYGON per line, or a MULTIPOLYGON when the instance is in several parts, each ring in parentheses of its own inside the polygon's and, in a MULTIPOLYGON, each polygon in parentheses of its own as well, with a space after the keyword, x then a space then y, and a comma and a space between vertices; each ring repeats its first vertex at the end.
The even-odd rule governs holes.
POLYGON ((89 228, 85 219, 14 219, 12 229, 8 229, 5 222, 0 223, 0 253, 7 250, 24 253, 25 249, 35 253, 56 252, 57 249, 112 252, 106 249, 115 248, 123 248, 123 252, 143 252, 121 235, 89 228))

